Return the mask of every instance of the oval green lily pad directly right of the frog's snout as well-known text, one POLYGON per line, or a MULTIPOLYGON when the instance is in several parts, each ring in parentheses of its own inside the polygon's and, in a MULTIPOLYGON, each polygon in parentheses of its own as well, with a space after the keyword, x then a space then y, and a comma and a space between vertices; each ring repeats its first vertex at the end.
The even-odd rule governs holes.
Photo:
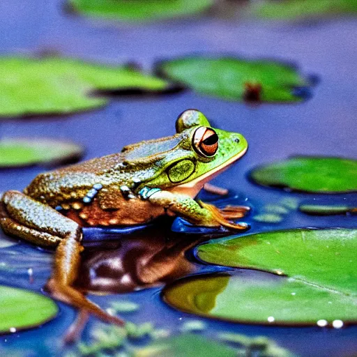
POLYGON ((357 160, 295 156, 257 167, 250 178, 259 185, 290 190, 342 193, 357 191, 357 160))

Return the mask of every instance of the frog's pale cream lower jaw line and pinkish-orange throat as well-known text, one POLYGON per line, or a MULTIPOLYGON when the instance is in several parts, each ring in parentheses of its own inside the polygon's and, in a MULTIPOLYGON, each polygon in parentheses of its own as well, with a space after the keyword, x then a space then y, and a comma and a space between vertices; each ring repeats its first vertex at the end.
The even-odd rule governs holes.
POLYGON ((214 179, 215 176, 218 176, 218 174, 227 169, 227 167, 233 164, 234 161, 241 158, 245 154, 247 149, 248 147, 245 148, 243 151, 237 153, 236 155, 232 156, 229 160, 223 162, 218 167, 215 167, 215 169, 211 170, 210 172, 206 172, 206 174, 197 177, 195 180, 182 183, 181 185, 177 185, 169 191, 174 193, 184 193, 185 195, 189 195, 192 198, 196 197, 198 192, 202 190, 206 182, 214 179))

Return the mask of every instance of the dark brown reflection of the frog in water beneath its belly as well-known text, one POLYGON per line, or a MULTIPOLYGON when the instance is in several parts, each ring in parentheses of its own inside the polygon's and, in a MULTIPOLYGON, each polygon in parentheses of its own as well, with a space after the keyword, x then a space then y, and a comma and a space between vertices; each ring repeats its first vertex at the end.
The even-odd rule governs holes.
POLYGON ((181 278, 197 268, 185 252, 208 237, 177 234, 160 222, 118 238, 86 246, 77 287, 99 294, 128 293, 181 278))

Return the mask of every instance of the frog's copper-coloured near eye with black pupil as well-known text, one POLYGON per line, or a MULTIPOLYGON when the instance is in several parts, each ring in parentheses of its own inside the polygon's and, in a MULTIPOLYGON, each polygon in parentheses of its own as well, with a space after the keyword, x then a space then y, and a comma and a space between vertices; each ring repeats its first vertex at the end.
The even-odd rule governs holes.
POLYGON ((199 155, 211 157, 218 150, 218 135, 215 130, 200 126, 193 134, 192 144, 199 155))

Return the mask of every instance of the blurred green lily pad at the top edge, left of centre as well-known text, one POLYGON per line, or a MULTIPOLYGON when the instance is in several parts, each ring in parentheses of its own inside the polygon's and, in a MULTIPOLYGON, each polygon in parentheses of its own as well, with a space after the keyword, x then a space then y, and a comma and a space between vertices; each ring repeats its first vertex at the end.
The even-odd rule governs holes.
POLYGON ((68 0, 73 10, 84 15, 127 22, 182 17, 210 8, 214 0, 68 0))

